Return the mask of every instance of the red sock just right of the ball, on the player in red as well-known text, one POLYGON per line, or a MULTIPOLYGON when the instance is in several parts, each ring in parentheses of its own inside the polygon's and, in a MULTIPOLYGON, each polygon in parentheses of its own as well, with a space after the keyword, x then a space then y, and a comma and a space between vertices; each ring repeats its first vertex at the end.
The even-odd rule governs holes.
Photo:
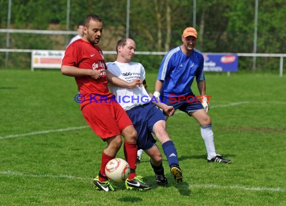
MULTIPOLYGON (((136 143, 128 143, 124 141, 124 156, 128 162, 130 169, 136 169, 136 160, 137 160, 137 146, 136 143)), ((136 173, 130 173, 128 179, 133 179, 136 176, 136 173)))

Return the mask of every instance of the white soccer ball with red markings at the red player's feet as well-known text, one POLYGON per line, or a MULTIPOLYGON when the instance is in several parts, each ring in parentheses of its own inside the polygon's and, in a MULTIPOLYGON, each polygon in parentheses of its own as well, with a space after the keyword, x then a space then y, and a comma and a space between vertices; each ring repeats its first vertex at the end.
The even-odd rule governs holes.
POLYGON ((114 158, 106 164, 105 174, 114 182, 123 182, 130 174, 130 166, 124 159, 114 158))

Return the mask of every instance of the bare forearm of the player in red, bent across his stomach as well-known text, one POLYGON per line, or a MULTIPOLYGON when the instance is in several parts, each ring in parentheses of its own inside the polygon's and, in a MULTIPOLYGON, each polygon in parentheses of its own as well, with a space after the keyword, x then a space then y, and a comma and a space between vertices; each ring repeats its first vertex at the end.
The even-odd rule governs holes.
POLYGON ((62 65, 61 72, 67 76, 90 76, 94 79, 100 78, 100 71, 95 69, 81 69, 75 66, 62 65))

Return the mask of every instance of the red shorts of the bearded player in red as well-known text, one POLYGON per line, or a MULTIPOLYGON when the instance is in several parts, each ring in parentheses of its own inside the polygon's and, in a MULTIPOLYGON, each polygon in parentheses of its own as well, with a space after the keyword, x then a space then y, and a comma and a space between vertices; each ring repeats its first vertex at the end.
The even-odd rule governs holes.
POLYGON ((88 125, 102 139, 116 136, 132 121, 119 103, 92 102, 85 105, 81 112, 88 125))

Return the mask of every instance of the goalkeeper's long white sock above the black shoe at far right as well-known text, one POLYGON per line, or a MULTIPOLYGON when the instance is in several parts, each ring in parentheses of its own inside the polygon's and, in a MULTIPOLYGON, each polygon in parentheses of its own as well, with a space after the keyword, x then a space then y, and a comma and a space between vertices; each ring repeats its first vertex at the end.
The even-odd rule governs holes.
POLYGON ((201 126, 201 134, 205 141, 206 149, 208 152, 208 159, 216 156, 215 145, 214 145, 214 132, 212 130, 212 125, 201 126))

